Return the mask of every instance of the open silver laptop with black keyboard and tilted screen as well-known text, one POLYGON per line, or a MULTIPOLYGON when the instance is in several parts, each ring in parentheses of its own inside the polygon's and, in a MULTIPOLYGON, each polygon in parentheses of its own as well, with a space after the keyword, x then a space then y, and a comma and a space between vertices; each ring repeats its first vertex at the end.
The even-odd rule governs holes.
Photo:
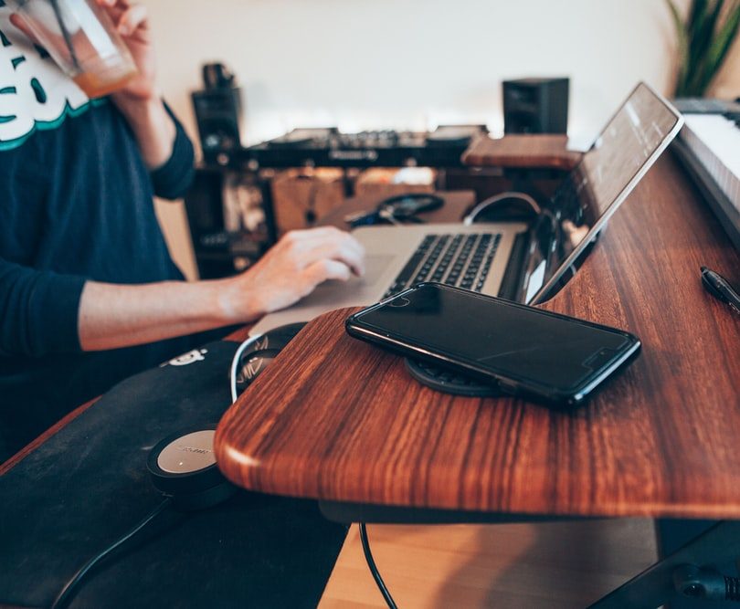
POLYGON ((682 123, 667 100, 640 82, 534 223, 357 228, 353 235, 366 252, 364 277, 326 281, 289 309, 265 316, 249 333, 373 304, 421 281, 541 302, 565 280, 682 123))

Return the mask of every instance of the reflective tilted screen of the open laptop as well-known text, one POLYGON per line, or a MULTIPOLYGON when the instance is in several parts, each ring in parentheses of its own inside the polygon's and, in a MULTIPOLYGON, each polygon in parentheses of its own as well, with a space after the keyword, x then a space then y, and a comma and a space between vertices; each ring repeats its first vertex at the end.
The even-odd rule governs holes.
POLYGON ((524 302, 546 298, 681 125, 678 111, 648 85, 640 83, 632 91, 559 185, 534 226, 524 302))

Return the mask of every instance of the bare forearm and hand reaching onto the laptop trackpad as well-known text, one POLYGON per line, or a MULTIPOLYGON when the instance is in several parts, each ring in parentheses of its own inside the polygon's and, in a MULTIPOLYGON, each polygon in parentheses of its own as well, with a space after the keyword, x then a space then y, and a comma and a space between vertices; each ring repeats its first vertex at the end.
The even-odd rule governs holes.
POLYGON ((79 302, 79 344, 100 351, 257 320, 288 307, 326 279, 364 272, 364 251, 336 228, 283 237, 234 278, 138 286, 88 281, 79 302))

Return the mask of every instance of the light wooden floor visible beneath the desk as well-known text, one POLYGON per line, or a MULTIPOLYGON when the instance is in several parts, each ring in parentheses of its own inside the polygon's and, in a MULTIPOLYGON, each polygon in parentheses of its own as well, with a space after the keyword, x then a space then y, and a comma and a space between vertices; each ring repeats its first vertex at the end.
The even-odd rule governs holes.
MULTIPOLYGON (((367 527, 375 562, 403 609, 577 609, 656 560, 651 520, 367 527)), ((321 609, 386 607, 356 525, 321 609)))

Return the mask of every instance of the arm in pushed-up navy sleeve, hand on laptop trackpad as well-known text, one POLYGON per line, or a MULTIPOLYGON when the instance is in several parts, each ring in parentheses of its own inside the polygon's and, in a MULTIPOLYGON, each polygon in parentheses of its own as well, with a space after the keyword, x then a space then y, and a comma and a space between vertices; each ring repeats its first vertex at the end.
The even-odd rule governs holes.
POLYGON ((0 356, 116 349, 256 320, 326 279, 362 275, 363 258, 332 227, 289 233, 241 275, 195 283, 107 284, 0 258, 0 356))

